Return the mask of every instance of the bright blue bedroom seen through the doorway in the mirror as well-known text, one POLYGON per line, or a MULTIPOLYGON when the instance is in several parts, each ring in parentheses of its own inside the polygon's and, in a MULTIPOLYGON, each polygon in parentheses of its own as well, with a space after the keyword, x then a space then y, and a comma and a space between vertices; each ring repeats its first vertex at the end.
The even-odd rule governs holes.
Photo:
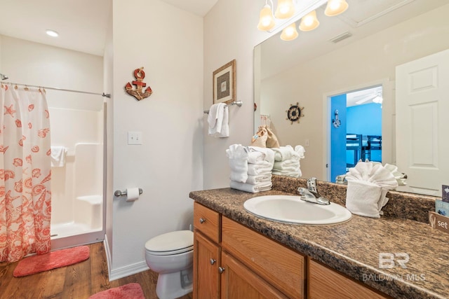
POLYGON ((382 85, 330 98, 330 177, 358 160, 382 162, 382 85))

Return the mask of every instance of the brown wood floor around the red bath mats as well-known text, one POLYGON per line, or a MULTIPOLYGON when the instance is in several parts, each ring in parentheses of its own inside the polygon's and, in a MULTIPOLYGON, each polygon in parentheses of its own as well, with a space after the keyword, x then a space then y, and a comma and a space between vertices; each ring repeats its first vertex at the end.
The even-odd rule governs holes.
MULTIPOLYGON (((86 299, 108 288, 138 282, 146 299, 156 299, 157 273, 152 270, 109 281, 105 247, 88 245, 91 256, 81 263, 26 277, 13 277, 16 263, 0 263, 0 299, 86 299)), ((192 299, 192 293, 182 299, 192 299)))

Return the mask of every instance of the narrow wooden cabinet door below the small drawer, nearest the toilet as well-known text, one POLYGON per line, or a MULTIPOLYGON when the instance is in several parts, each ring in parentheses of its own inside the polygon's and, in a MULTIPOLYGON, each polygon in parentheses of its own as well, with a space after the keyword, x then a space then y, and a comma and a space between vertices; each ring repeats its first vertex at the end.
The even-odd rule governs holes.
POLYGON ((220 298, 220 247, 194 232, 194 298, 220 298))

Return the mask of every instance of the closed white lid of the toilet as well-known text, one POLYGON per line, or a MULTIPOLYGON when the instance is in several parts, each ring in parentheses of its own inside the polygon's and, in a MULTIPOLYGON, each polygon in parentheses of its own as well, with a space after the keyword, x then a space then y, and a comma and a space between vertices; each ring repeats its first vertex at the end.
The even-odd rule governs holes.
POLYGON ((167 232, 166 234, 149 239, 145 243, 145 249, 147 249, 147 251, 159 253, 169 253, 170 251, 177 251, 177 253, 181 253, 192 250, 193 246, 194 233, 190 230, 167 232))

